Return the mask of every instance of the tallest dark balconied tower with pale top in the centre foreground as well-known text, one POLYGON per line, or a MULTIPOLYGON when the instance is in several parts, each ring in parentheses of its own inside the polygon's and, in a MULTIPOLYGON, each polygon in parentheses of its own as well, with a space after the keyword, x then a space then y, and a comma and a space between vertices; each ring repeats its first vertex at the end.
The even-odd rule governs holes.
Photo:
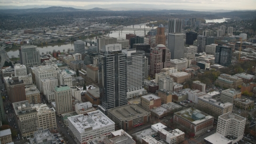
POLYGON ((126 99, 126 54, 121 44, 102 47, 99 55, 99 84, 101 105, 107 113, 109 108, 127 104, 126 99))

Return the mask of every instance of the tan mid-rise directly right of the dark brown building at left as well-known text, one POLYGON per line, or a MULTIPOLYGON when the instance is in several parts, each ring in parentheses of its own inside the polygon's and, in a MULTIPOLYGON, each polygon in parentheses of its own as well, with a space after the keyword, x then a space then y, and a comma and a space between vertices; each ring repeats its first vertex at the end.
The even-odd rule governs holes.
POLYGON ((41 103, 40 92, 38 91, 36 86, 26 88, 25 92, 28 103, 41 103))

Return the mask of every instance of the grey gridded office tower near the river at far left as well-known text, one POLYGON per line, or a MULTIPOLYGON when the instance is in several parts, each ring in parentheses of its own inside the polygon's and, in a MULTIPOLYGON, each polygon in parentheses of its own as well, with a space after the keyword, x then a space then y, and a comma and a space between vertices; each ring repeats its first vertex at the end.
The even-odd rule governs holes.
POLYGON ((40 65, 40 54, 35 45, 23 45, 20 47, 20 63, 26 66, 40 65))

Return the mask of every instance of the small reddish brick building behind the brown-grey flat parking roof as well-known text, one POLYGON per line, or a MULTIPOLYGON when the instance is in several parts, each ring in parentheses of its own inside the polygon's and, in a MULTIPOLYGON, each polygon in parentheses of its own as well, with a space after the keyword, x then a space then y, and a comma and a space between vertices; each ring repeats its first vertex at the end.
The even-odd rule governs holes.
POLYGON ((161 98, 154 94, 148 94, 140 97, 141 106, 147 110, 153 109, 154 107, 161 106, 161 98))

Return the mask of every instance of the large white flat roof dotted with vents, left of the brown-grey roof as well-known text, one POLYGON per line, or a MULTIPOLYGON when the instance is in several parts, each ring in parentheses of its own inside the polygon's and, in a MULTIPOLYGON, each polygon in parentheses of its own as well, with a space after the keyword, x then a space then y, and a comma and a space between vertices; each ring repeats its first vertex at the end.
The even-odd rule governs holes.
POLYGON ((101 129, 102 127, 115 125, 115 123, 100 110, 95 110, 87 114, 88 115, 81 114, 68 117, 68 121, 73 124, 79 133, 84 133, 87 130, 101 129))

